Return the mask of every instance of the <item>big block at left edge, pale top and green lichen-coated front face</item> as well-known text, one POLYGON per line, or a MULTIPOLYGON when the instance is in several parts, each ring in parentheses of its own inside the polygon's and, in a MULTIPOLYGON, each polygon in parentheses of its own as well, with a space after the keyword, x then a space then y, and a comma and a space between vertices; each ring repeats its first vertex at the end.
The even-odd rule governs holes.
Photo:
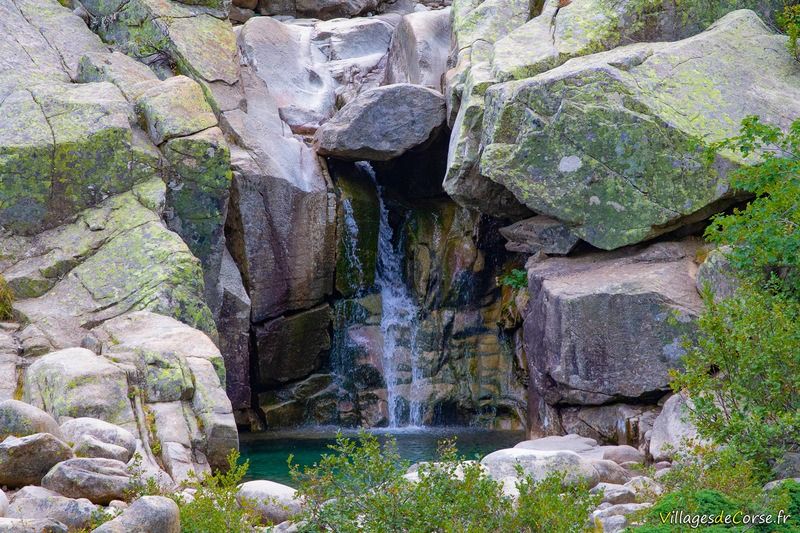
POLYGON ((33 233, 152 175, 110 83, 42 84, 0 104, 0 224, 33 233))

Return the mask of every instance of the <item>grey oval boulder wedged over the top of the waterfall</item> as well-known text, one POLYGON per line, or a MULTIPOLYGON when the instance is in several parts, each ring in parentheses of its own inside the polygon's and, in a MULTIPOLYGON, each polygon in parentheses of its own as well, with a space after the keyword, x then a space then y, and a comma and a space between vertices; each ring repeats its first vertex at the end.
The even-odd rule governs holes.
POLYGON ((444 98, 430 89, 398 83, 370 89, 317 130, 321 155, 386 161, 431 140, 444 123, 444 98))

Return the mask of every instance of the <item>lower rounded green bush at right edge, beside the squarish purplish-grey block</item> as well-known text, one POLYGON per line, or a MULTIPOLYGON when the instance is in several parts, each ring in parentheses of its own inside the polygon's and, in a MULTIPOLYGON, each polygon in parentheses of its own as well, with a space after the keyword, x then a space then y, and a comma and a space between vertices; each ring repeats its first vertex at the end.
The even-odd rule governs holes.
POLYGON ((705 305, 684 371, 673 373, 700 435, 761 464, 797 451, 800 303, 745 285, 721 302, 706 293, 705 305))

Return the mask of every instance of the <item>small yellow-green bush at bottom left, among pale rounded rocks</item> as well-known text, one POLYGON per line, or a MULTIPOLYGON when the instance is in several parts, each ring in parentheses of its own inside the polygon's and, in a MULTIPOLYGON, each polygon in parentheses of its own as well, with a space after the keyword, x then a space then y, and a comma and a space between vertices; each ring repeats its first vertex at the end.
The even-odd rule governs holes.
POLYGON ((183 533, 249 533, 258 525, 260 518, 253 506, 236 499, 239 483, 247 474, 250 462, 239 464, 236 450, 231 450, 227 459, 225 471, 218 470, 199 478, 190 473, 188 487, 195 490, 191 501, 185 501, 180 495, 173 496, 181 510, 183 533))

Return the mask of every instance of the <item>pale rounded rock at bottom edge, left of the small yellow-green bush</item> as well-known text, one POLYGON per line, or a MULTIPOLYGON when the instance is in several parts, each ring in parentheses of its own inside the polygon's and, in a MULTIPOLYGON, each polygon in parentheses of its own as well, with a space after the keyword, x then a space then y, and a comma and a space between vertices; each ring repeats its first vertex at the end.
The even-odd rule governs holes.
POLYGON ((178 505, 164 496, 142 496, 113 520, 109 520, 94 533, 129 533, 153 531, 179 533, 181 530, 178 505))

